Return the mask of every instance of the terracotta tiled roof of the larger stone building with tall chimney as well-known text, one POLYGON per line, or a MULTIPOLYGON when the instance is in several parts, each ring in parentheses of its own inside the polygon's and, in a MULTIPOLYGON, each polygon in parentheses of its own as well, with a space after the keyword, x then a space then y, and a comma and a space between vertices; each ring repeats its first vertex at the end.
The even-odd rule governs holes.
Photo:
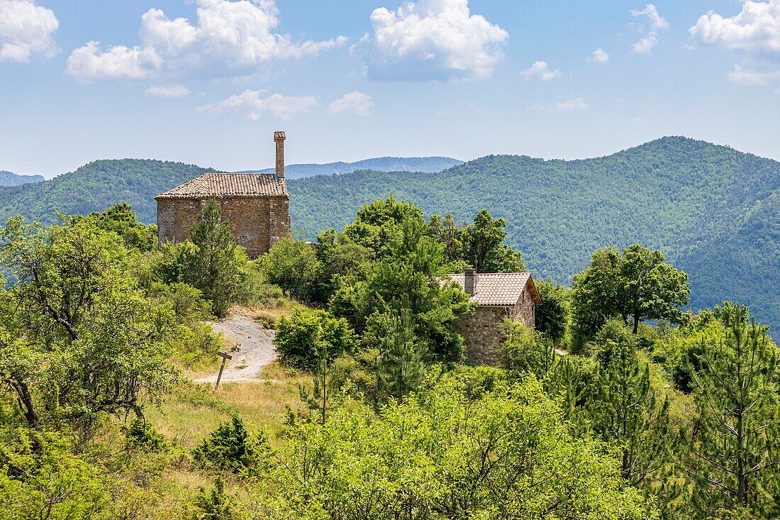
POLYGON ((272 173, 204 173, 154 199, 211 197, 286 198, 289 194, 284 179, 272 173))

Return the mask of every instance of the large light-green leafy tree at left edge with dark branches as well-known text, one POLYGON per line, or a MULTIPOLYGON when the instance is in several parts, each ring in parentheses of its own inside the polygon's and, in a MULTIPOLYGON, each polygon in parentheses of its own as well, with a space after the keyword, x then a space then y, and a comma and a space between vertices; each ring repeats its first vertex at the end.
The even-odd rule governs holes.
POLYGON ((168 305, 154 305, 129 275, 115 233, 83 219, 44 228, 11 219, 0 265, 0 374, 30 425, 87 424, 101 413, 157 400, 174 375, 168 305))

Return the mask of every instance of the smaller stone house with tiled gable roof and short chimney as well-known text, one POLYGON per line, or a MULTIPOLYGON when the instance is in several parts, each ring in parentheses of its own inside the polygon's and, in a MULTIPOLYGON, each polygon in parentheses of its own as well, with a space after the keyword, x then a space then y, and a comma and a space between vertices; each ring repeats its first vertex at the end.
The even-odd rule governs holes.
POLYGON ((466 343, 466 358, 475 364, 498 365, 504 340, 504 320, 534 328, 536 306, 541 304, 530 272, 448 274, 463 287, 477 312, 461 317, 456 330, 466 343))

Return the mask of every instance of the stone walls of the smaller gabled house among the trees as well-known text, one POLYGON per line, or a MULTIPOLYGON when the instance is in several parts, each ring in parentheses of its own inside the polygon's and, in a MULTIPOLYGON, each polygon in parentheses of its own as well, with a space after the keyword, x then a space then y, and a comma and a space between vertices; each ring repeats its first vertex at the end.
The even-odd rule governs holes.
POLYGON ((526 289, 513 307, 477 307, 475 314, 461 317, 456 331, 466 344, 466 359, 474 365, 500 364, 504 320, 509 318, 533 329, 535 308, 526 289))

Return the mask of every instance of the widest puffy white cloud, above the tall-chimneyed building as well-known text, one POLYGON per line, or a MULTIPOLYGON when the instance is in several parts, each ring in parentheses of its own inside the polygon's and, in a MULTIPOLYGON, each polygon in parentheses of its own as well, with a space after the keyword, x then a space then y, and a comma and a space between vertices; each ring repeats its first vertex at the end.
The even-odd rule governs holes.
POLYGON ((325 41, 294 42, 278 34, 273 0, 196 0, 197 22, 170 19, 161 9, 141 16, 141 43, 101 48, 96 41, 76 48, 66 73, 82 81, 143 77, 230 77, 248 75, 273 59, 317 55, 346 44, 339 36, 325 41), (122 62, 127 72, 118 70, 122 62))

